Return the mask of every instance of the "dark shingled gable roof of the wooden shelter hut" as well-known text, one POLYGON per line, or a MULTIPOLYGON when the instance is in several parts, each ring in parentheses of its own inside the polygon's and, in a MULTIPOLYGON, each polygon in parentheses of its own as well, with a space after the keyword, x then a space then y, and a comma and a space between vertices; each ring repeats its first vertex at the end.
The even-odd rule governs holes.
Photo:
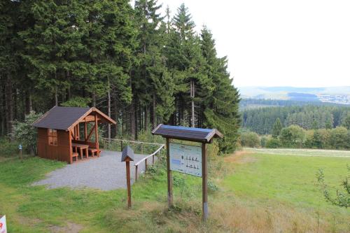
POLYGON ((97 108, 59 107, 55 106, 36 120, 32 126, 47 129, 69 130, 90 113, 95 112, 104 118, 104 122, 116 124, 114 120, 99 111, 97 108))

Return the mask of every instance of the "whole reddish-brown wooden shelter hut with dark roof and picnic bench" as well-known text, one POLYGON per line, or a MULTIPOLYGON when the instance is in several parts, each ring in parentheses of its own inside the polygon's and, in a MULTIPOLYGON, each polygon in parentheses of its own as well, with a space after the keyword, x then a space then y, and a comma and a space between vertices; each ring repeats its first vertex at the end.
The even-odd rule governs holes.
POLYGON ((38 156, 68 163, 99 157, 99 123, 116 124, 97 108, 51 108, 33 123, 38 128, 38 156))

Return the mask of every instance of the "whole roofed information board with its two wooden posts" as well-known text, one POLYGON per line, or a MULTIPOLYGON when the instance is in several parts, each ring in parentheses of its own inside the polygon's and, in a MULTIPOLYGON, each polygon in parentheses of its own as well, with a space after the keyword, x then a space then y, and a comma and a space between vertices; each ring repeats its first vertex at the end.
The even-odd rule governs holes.
POLYGON ((202 177, 202 212, 203 220, 208 218, 208 164, 207 143, 214 138, 223 137, 217 129, 200 129, 172 125, 158 125, 152 134, 161 135, 167 139, 167 178, 168 205, 173 205, 172 171, 202 177), (202 146, 189 146, 172 143, 171 139, 195 141, 202 146))

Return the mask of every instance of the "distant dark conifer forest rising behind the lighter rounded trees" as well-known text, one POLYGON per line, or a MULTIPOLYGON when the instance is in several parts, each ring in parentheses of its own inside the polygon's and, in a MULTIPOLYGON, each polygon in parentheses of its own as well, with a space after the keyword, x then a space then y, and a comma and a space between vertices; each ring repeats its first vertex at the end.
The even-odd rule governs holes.
MULTIPOLYGON (((293 101, 292 101, 293 102, 293 101)), ((279 102, 277 101, 276 104, 279 102)), ((345 124, 350 106, 318 104, 245 108, 241 111, 241 125, 258 134, 272 134, 277 118, 283 127, 298 125, 303 129, 332 129, 345 124)))

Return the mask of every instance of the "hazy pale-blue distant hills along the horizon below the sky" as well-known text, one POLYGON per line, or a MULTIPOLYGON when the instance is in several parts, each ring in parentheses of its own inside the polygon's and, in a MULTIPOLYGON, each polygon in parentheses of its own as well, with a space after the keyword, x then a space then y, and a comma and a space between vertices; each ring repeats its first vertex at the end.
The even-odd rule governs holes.
POLYGON ((284 99, 350 104, 350 86, 342 87, 239 87, 242 99, 284 99))

